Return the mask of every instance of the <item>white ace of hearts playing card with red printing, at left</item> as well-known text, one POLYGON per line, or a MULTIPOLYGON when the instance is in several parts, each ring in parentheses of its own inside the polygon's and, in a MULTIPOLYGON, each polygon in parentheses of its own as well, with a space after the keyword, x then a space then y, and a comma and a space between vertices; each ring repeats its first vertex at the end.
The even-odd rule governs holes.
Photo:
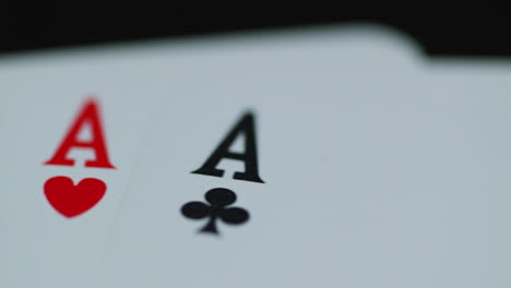
POLYGON ((91 287, 158 96, 134 67, 106 50, 3 61, 1 287, 91 287))

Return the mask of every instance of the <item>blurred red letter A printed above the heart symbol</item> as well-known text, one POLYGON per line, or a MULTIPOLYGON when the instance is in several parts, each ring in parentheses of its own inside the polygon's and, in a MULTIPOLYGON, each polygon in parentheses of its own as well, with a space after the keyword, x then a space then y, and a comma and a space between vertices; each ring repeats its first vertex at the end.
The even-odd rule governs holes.
POLYGON ((110 164, 110 160, 108 159, 98 110, 98 104, 94 99, 90 99, 85 103, 85 106, 80 111, 76 120, 74 120, 74 123, 71 125, 71 129, 63 139, 54 157, 46 161, 45 165, 73 166, 74 160, 67 157, 71 148, 75 147, 91 148, 94 151, 96 159, 86 160, 85 167, 110 169, 116 168, 110 164), (90 141, 81 141, 78 139, 78 136, 80 134, 80 131, 84 128, 84 125, 87 122, 91 125, 92 139, 90 141))

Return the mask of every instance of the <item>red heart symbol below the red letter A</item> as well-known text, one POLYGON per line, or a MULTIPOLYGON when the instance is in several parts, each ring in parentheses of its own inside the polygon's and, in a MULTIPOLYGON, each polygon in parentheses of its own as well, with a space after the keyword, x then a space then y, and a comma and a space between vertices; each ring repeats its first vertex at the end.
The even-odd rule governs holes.
POLYGON ((85 178, 73 184, 69 177, 46 180, 45 195, 50 205, 64 217, 72 218, 94 207, 105 195, 106 184, 99 179, 85 178))

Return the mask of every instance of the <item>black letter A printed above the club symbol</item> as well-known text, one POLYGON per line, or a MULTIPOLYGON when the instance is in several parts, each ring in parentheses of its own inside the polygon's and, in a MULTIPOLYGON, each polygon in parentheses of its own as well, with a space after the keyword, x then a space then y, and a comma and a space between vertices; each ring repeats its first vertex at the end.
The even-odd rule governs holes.
POLYGON ((204 165, 195 171, 192 171, 192 173, 216 177, 224 176, 224 170, 215 168, 222 158, 241 160, 245 163, 245 172, 235 172, 234 179, 264 183, 258 172, 258 153, 255 149, 255 130, 253 127, 252 113, 248 112, 243 115, 241 120, 233 128, 224 141, 221 142, 204 165), (245 134, 245 153, 229 152, 229 146, 233 145, 233 142, 235 142, 241 133, 245 134))

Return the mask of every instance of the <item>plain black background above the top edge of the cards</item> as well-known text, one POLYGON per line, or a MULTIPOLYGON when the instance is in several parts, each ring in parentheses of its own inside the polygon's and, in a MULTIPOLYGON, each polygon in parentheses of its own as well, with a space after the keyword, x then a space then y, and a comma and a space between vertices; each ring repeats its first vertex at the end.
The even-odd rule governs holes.
POLYGON ((7 2, 0 9, 0 56, 140 39, 313 26, 353 22, 400 28, 431 57, 510 57, 511 16, 506 8, 420 7, 346 9, 289 4, 286 9, 247 2, 240 7, 171 3, 96 4, 88 2, 7 2))

